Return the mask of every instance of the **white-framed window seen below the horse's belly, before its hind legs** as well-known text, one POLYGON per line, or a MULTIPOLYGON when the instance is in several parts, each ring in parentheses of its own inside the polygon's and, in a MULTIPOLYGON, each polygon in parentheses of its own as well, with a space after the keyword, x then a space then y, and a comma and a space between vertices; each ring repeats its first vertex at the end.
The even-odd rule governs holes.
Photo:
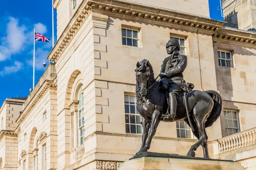
POLYGON ((191 128, 186 124, 185 121, 177 121, 176 122, 176 130, 178 138, 189 138, 191 139, 191 128))

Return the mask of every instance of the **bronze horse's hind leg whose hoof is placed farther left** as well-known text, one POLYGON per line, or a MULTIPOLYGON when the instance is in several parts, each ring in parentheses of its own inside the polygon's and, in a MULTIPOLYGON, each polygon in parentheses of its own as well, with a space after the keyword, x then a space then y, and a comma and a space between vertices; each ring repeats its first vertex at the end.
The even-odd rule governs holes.
POLYGON ((195 150, 197 150, 197 148, 201 145, 204 144, 204 142, 206 142, 207 140, 207 136, 205 133, 205 127, 204 127, 204 122, 206 120, 206 116, 208 115, 208 113, 204 112, 204 109, 199 108, 200 105, 196 105, 194 108, 194 117, 195 117, 195 122, 198 128, 198 131, 200 133, 200 138, 198 140, 198 142, 196 142, 194 145, 192 145, 192 147, 190 148, 187 156, 193 156, 195 157, 195 150))

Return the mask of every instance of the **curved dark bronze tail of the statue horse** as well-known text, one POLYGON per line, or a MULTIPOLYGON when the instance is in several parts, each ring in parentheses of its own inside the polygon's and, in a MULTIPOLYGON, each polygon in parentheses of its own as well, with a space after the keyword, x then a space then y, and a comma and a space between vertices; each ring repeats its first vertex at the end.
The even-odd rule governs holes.
POLYGON ((221 99, 221 95, 218 94, 218 92, 216 91, 204 91, 204 92, 209 94, 214 101, 212 111, 209 117, 207 118, 207 121, 205 122, 205 127, 210 127, 221 115, 222 99, 221 99))

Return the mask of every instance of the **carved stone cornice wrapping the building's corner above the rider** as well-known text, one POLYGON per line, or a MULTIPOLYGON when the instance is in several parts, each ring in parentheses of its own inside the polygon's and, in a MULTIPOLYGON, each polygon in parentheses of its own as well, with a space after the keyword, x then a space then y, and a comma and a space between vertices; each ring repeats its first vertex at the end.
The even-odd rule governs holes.
MULTIPOLYGON (((47 59, 50 59, 54 62, 58 61, 59 56, 63 53, 67 45, 73 39, 73 36, 81 26, 81 23, 85 20, 91 11, 99 12, 102 14, 107 12, 108 14, 106 15, 108 16, 115 14, 120 18, 130 16, 134 17, 134 20, 140 19, 140 22, 145 20, 155 20, 159 25, 164 25, 163 23, 167 23, 168 25, 170 24, 170 27, 172 27, 174 26, 173 24, 175 24, 191 28, 200 28, 202 30, 213 32, 222 28, 222 26, 225 24, 225 22, 211 20, 209 18, 183 14, 176 11, 169 11, 160 8, 152 8, 133 3, 125 3, 119 0, 84 0, 68 26, 65 28, 64 32, 61 34, 47 59)), ((107 18, 97 18, 97 20, 105 21, 107 18)))

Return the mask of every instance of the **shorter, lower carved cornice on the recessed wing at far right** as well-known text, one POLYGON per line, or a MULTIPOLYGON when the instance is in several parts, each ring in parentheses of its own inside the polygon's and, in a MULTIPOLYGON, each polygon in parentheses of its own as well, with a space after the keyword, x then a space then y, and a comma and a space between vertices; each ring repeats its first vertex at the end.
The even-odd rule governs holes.
POLYGON ((212 35, 214 41, 239 42, 256 48, 256 33, 235 28, 222 28, 212 35))

